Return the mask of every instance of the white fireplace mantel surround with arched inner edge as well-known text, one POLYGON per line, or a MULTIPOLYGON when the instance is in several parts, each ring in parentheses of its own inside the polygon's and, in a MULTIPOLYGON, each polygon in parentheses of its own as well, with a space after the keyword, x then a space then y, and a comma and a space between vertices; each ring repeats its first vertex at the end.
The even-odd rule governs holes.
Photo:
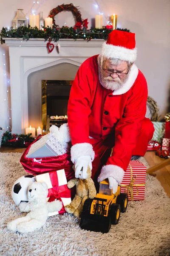
POLYGON ((43 38, 3 38, 9 46, 12 132, 25 133, 28 127, 28 76, 29 74, 60 63, 80 66, 87 58, 99 54, 104 40, 60 39, 48 53, 43 38), (59 53, 56 45, 60 44, 59 53))

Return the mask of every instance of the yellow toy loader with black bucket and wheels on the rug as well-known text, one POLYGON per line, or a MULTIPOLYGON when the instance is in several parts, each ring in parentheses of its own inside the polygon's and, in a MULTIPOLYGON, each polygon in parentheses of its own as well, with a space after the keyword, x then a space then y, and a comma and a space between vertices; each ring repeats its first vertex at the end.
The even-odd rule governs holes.
POLYGON ((85 230, 108 233, 111 224, 118 224, 120 212, 127 209, 128 197, 109 189, 108 179, 100 182, 99 193, 94 199, 87 199, 84 203, 80 221, 80 227, 85 230))

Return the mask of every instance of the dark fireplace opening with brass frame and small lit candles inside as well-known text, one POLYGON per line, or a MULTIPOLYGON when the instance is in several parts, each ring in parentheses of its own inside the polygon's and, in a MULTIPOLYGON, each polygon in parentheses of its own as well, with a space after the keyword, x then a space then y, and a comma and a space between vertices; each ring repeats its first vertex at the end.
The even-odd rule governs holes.
POLYGON ((67 122, 67 107, 73 80, 42 80, 42 134, 51 125, 67 122))

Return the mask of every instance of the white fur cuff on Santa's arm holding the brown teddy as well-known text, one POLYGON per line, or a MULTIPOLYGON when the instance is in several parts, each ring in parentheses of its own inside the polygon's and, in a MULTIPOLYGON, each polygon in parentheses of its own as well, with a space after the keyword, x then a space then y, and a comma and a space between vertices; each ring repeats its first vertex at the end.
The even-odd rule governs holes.
POLYGON ((71 147, 71 161, 75 163, 78 157, 90 156, 94 160, 94 150, 90 143, 77 143, 71 147))

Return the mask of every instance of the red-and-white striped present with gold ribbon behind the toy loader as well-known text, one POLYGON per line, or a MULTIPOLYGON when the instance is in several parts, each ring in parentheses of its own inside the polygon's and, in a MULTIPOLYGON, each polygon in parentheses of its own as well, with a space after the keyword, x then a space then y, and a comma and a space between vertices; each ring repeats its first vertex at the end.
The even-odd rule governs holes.
POLYGON ((139 160, 130 161, 121 186, 121 193, 127 193, 128 200, 144 200, 146 166, 139 160))

